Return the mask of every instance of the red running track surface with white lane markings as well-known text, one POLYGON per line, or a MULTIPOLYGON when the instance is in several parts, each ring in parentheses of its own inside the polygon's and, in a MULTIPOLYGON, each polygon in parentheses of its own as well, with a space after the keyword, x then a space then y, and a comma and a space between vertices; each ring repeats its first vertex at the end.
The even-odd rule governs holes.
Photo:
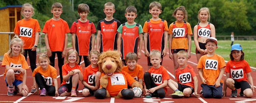
MULTIPOLYGON (((69 48, 71 49, 71 48, 69 48)), ((217 49, 218 50, 218 49, 217 49)), ((167 51, 168 52, 168 51, 167 51)), ((138 64, 140 64, 144 68, 144 72, 147 71, 147 58, 144 56, 144 47, 142 51, 142 57, 140 60, 138 60, 138 64)), ((57 57, 57 56, 56 56, 57 57)), ((83 61, 83 60, 82 60, 83 61)), ((29 58, 28 58, 28 65, 29 64, 29 58)), ((1 64, 1 61, 0 61, 1 64)), ((57 66, 57 59, 55 59, 55 68, 57 69, 57 75, 59 75, 59 68, 57 66)), ((192 66, 194 68, 194 71, 197 74, 197 78, 199 80, 199 87, 198 87, 198 93, 201 90, 200 86, 200 78, 198 76, 198 70, 196 69, 197 59, 195 55, 192 55, 189 59, 189 62, 187 62, 188 65, 192 66)), ((81 63, 83 70, 84 70, 84 63, 81 63)), ((38 66, 38 65, 37 65, 38 66)), ((169 77, 172 80, 175 80, 171 74, 174 74, 173 70, 173 61, 169 58, 169 53, 164 57, 163 59, 163 66, 166 68, 167 71, 169 71, 169 77)), ((125 100, 122 98, 105 98, 105 99, 96 99, 94 96, 89 97, 83 97, 82 93, 78 93, 77 97, 56 97, 56 96, 39 96, 39 95, 30 95, 27 97, 22 97, 19 93, 15 96, 7 96, 7 86, 4 81, 3 74, 5 72, 4 67, 0 67, 0 102, 15 102, 15 103, 141 103, 141 102, 148 102, 148 103, 172 103, 172 102, 179 102, 179 103, 255 103, 256 102, 256 95, 253 93, 253 97, 251 99, 248 99, 246 97, 236 97, 231 98, 229 97, 231 94, 231 90, 227 89, 227 97, 222 97, 221 99, 205 99, 201 94, 201 98, 195 98, 194 95, 192 95, 189 98, 183 97, 182 99, 172 99, 171 96, 168 96, 172 94, 173 90, 168 88, 168 93, 166 94, 164 99, 159 99, 158 97, 152 97, 150 99, 148 98, 133 98, 131 100, 125 100)), ((225 74, 225 73, 224 73, 225 74)), ((256 72, 251 72, 253 82, 256 83, 256 72)), ((222 80, 224 80, 225 76, 222 77, 222 80)), ((59 86, 60 86, 60 79, 57 78, 59 86)), ((32 80, 32 71, 30 69, 27 70, 27 82, 26 85, 28 86, 29 90, 31 90, 31 86, 33 85, 32 80)), ((79 88, 78 90, 83 89, 83 84, 79 82, 79 88)), ((240 92, 240 89, 238 89, 238 93, 240 92)), ((39 90, 40 93, 40 90, 39 90)))

